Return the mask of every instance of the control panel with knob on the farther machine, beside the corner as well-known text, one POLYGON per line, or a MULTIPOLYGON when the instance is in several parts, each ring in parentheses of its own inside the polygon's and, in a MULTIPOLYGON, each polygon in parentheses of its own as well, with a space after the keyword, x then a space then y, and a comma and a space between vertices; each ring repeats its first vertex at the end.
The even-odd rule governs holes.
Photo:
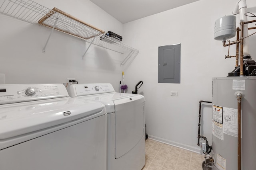
POLYGON ((67 90, 70 97, 115 92, 110 83, 72 84, 67 90))

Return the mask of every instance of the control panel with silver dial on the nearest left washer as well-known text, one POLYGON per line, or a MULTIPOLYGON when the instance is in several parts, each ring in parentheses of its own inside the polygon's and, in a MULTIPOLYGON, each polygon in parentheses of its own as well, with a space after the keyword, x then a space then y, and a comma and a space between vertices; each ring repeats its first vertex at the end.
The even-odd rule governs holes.
POLYGON ((68 97, 63 84, 0 84, 0 104, 68 97))

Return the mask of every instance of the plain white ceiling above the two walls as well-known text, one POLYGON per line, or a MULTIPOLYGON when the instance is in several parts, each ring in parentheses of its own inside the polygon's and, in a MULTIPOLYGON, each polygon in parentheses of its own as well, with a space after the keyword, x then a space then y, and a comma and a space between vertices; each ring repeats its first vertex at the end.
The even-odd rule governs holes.
POLYGON ((138 20, 198 0, 90 0, 122 23, 138 20))

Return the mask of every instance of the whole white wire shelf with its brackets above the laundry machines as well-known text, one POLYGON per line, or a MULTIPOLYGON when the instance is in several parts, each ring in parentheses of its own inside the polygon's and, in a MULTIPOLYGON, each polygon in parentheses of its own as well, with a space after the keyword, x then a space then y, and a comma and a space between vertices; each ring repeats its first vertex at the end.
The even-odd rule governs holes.
MULTIPOLYGON (((121 54, 128 53, 128 56, 121 65, 124 65, 131 57, 134 59, 139 53, 138 50, 122 43, 122 41, 104 35, 105 32, 101 29, 85 23, 58 8, 51 10, 32 0, 0 0, 0 13, 28 23, 36 23, 52 28, 52 30, 61 31, 83 39, 90 43, 90 45, 97 45, 121 54)), ((48 40, 50 39, 51 33, 48 40)), ((43 49, 43 53, 45 53, 46 45, 43 49)), ((87 47, 86 52, 89 47, 87 47)))

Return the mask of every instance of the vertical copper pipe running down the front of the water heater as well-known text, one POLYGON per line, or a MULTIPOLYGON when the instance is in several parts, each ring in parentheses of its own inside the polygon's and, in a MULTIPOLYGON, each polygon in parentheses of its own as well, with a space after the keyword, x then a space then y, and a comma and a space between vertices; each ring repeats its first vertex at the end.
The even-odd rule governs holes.
POLYGON ((241 102, 242 102, 242 94, 238 93, 237 96, 237 109, 238 109, 238 141, 237 141, 237 152, 238 152, 238 170, 241 170, 241 102))

